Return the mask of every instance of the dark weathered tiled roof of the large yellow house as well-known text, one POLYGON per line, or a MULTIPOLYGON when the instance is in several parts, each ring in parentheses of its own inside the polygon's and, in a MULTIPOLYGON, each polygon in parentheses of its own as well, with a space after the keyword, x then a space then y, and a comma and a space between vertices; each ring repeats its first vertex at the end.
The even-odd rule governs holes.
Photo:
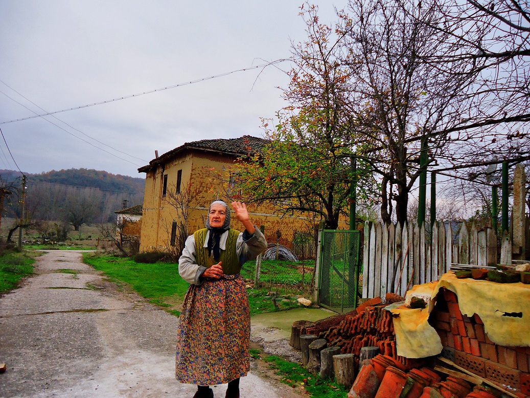
POLYGON ((268 142, 268 140, 264 140, 259 137, 253 137, 251 135, 243 135, 240 138, 232 139, 215 139, 187 142, 184 145, 172 149, 171 151, 164 153, 160 157, 153 159, 149 162, 149 165, 140 167, 138 169, 138 172, 146 172, 147 170, 152 169, 160 163, 166 162, 176 154, 179 154, 187 149, 222 152, 235 156, 241 156, 261 151, 263 147, 267 145, 268 142))

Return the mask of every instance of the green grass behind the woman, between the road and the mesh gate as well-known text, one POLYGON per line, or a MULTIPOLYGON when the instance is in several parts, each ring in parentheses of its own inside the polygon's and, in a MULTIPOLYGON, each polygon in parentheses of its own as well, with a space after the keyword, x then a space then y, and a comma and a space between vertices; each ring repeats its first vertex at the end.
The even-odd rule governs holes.
MULTIPOLYGON (((153 304, 164 307, 172 314, 179 314, 189 283, 179 275, 178 264, 144 264, 137 263, 132 258, 96 253, 86 253, 84 259, 87 264, 104 272, 114 282, 126 283, 153 304)), ((245 264, 242 271, 244 278, 253 278, 254 266, 255 262, 245 264)), ((248 289, 251 315, 300 307, 296 299, 303 293, 302 274, 296 267, 279 261, 263 262, 262 275, 270 275, 261 278, 264 280, 263 287, 248 289)), ((307 273, 304 279, 307 279, 308 285, 311 274, 307 273)))

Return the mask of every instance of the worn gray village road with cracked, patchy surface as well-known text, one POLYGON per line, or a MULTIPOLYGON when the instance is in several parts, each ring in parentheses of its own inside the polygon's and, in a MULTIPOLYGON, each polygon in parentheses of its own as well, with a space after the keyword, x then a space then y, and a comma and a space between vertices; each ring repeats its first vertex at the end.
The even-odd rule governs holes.
MULTIPOLYGON (((80 252, 46 253, 36 275, 0 299, 0 396, 192 397, 196 387, 174 379, 177 323, 105 281, 80 252)), ((242 398, 299 397, 252 368, 242 398)), ((216 397, 225 391, 214 387, 216 397)))

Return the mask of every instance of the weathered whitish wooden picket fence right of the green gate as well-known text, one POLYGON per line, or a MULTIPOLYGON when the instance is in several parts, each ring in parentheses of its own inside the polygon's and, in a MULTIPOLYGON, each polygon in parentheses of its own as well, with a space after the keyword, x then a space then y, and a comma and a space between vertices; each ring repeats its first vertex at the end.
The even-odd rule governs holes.
MULTIPOLYGON (((363 298, 404 296, 413 285, 438 280, 452 263, 488 265, 497 263, 497 235, 492 228, 478 230, 462 223, 454 243, 453 224, 437 222, 432 239, 417 223, 385 225, 366 222, 363 250, 363 298), (427 238, 427 239, 426 239, 427 238), (430 240, 430 242, 429 242, 430 240)), ((511 244, 502 239, 501 263, 511 263, 511 244), (508 258, 509 253, 509 258, 508 258)))

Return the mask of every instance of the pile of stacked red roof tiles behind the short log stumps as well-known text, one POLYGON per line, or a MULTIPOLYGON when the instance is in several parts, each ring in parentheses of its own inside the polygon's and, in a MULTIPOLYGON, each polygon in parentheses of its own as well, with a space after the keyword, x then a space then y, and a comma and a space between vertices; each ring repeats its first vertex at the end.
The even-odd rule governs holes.
MULTIPOLYGON (((368 300, 355 311, 346 314, 338 325, 321 333, 328 345, 341 348, 341 353, 352 353, 356 365, 359 362, 360 350, 363 347, 378 347, 379 351, 400 361, 405 366, 412 365, 410 360, 396 354, 396 343, 392 314, 385 310, 380 298, 368 300)), ((307 330, 310 332, 310 329, 307 330)))

